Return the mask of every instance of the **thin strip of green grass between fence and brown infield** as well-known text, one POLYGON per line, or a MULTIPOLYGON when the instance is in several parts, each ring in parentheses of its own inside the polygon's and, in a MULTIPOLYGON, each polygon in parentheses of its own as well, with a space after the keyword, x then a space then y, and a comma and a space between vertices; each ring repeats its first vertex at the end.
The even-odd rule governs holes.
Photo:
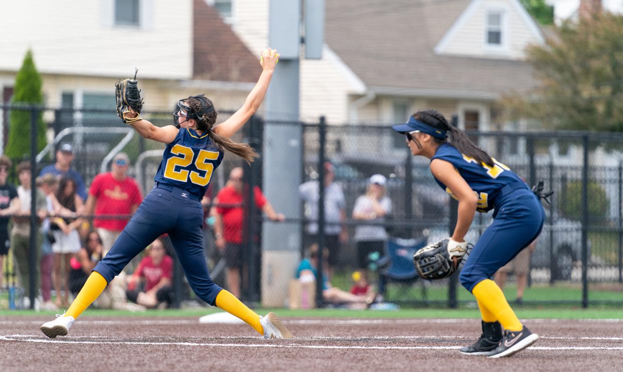
MULTIPOLYGON (((346 309, 255 309, 259 314, 269 311, 276 312, 280 317, 290 318, 341 318, 341 319, 479 319, 477 309, 402 309, 397 311, 374 310, 346 310, 346 309)), ((120 310, 88 309, 83 317, 201 317, 207 314, 221 312, 220 309, 181 309, 181 310, 148 310, 146 312, 127 312, 120 310)), ((31 310, 0 310, 0 317, 37 317, 45 319, 54 317, 56 312, 31 310)), ((623 319, 621 308, 579 309, 517 309, 516 314, 521 319, 623 319)))

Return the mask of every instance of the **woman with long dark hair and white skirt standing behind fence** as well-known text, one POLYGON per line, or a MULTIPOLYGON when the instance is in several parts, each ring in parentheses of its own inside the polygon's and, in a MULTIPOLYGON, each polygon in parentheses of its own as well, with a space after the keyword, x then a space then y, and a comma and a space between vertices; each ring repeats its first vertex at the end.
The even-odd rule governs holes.
POLYGON ((50 229, 53 231, 54 243, 54 290, 56 291, 56 305, 69 305, 69 269, 72 256, 80 249, 80 235, 78 227, 81 218, 76 217, 76 211, 82 209, 82 199, 76 193, 76 185, 72 178, 65 176, 60 179, 59 188, 55 194, 60 204, 59 216, 52 218, 50 229), (64 269, 63 269, 64 267, 64 269), (60 289, 64 288, 61 300, 60 289))

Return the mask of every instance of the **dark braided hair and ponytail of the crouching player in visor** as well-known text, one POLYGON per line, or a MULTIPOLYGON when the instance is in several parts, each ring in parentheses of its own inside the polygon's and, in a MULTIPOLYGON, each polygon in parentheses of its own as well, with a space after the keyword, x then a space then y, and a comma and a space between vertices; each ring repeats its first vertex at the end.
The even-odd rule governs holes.
POLYGON ((438 144, 447 142, 459 150, 460 153, 476 159, 478 164, 484 163, 490 167, 493 167, 493 159, 489 154, 487 154, 487 151, 484 151, 480 147, 476 146, 469 139, 469 137, 467 137, 467 134, 465 134, 464 131, 450 125, 444 115, 438 111, 435 111, 434 109, 417 111, 417 113, 413 114, 413 117, 419 121, 423 121, 433 128, 441 129, 442 131, 447 131, 449 133, 449 136, 445 139, 433 137, 435 142, 438 144))

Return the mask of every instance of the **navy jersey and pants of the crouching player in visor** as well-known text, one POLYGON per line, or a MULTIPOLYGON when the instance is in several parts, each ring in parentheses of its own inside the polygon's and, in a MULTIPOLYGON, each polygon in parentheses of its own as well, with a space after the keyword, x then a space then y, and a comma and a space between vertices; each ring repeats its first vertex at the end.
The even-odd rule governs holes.
MULTIPOLYGON (((478 212, 493 212, 493 223, 483 231, 470 253, 459 279, 472 291, 480 281, 491 279, 500 267, 526 248, 541 233, 545 211, 541 201, 518 175, 494 159, 493 167, 461 154, 450 144, 440 144, 430 159, 454 165, 478 196, 478 212)), ((450 189, 435 179, 452 195, 450 189)), ((454 197, 454 195, 452 195, 454 197)))

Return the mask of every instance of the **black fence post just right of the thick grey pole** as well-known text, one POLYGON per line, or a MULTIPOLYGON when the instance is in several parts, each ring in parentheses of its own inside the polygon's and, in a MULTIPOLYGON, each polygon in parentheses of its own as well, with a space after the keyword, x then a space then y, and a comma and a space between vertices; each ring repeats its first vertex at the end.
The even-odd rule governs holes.
POLYGON ((318 267, 316 267, 316 307, 323 307, 323 271, 325 264, 325 151, 326 123, 320 116, 318 123, 320 147, 318 148, 318 267))

